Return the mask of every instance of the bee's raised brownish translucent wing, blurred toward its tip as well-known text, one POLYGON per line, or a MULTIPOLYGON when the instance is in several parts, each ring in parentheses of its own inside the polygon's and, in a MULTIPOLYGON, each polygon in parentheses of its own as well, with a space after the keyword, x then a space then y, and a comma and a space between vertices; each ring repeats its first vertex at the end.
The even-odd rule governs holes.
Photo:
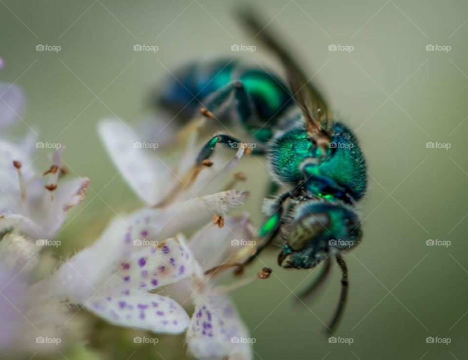
POLYGON ((257 11, 244 8, 239 18, 246 28, 254 34, 282 62, 294 99, 301 107, 306 119, 306 129, 311 135, 327 130, 329 112, 327 103, 320 91, 309 81, 291 54, 284 49, 277 37, 267 29, 268 23, 261 21, 257 11))

